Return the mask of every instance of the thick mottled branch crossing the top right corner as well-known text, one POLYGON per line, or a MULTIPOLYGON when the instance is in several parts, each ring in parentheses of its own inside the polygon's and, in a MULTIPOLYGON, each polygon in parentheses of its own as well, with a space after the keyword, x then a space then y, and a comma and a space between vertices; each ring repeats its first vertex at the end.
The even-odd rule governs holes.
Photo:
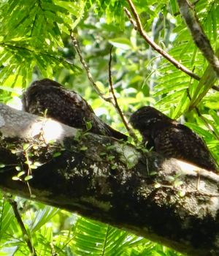
POLYGON ((201 28, 199 19, 196 17, 196 13, 193 11, 192 4, 189 2, 189 0, 177 0, 177 2, 180 7, 180 13, 183 15, 185 23, 187 24, 188 29, 191 31, 193 41, 196 43, 199 50, 201 50, 201 53, 210 63, 219 78, 219 59, 215 55, 209 39, 201 28))

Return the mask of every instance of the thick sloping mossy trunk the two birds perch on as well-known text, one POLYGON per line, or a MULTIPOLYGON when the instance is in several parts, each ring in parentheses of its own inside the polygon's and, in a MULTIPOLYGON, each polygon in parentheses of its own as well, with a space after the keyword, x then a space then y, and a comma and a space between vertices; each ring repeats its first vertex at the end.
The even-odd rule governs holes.
POLYGON ((34 200, 188 255, 219 255, 215 173, 5 105, 0 105, 0 132, 2 190, 31 198, 29 184, 34 200), (12 180, 18 166, 34 176, 28 184, 12 180))

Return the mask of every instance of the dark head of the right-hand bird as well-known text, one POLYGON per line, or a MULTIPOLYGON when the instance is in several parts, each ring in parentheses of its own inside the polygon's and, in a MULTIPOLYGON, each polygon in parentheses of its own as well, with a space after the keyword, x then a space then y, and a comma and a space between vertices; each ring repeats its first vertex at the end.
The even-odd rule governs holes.
POLYGON ((140 132, 147 129, 153 129, 158 123, 170 124, 172 119, 156 110, 153 107, 145 106, 135 111, 130 118, 130 123, 134 129, 138 129, 140 132))

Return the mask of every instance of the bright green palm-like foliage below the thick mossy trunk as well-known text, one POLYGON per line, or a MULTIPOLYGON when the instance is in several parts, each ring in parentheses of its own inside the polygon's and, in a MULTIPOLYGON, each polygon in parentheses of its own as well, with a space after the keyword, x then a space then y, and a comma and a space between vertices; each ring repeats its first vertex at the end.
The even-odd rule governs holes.
MULTIPOLYGON (((25 200, 17 200, 23 206, 22 217, 37 255, 180 255, 110 225, 38 203, 33 208, 25 200)), ((1 209, 1 252, 28 255, 25 237, 9 203, 1 200, 1 209)))

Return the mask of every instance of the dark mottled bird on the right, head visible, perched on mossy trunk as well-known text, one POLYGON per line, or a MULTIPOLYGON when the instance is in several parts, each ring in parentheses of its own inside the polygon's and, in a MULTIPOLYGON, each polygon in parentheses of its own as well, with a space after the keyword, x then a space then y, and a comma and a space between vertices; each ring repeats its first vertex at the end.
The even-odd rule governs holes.
POLYGON ((217 173, 217 164, 204 140, 190 128, 145 106, 131 114, 130 123, 139 130, 147 149, 217 173))

